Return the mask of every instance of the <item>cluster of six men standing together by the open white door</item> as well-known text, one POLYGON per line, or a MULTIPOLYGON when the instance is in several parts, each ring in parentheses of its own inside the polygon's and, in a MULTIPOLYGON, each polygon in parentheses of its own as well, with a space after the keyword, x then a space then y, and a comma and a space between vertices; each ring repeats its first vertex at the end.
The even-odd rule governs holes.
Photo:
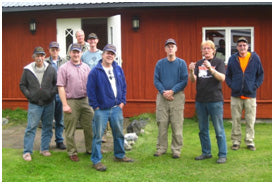
POLYGON ((56 147, 67 149, 70 160, 77 162, 74 140, 78 122, 83 128, 86 153, 93 167, 105 171, 101 163, 101 143, 109 122, 113 133, 114 160, 133 162, 125 156, 123 112, 126 104, 126 80, 122 68, 114 61, 116 47, 107 44, 97 49, 95 33, 88 35, 89 47, 82 30, 76 32, 78 43, 69 46, 68 61, 61 58, 59 44, 49 44, 50 57, 42 47, 33 52, 34 62, 24 67, 20 89, 29 101, 28 125, 24 136, 23 159, 31 161, 37 126, 42 121, 40 153, 50 156, 49 145, 55 119, 56 147), (83 49, 86 51, 83 53, 83 49), (65 127, 66 146, 63 143, 65 127))

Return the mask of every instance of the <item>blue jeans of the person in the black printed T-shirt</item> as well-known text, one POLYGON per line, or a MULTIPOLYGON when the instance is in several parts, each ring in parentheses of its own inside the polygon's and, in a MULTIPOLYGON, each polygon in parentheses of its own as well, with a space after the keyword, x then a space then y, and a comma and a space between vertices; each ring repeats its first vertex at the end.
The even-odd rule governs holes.
POLYGON ((210 116, 215 129, 217 144, 219 148, 218 156, 226 157, 227 146, 223 125, 223 102, 196 102, 195 107, 199 121, 199 137, 202 146, 202 154, 211 155, 211 142, 209 137, 210 116))

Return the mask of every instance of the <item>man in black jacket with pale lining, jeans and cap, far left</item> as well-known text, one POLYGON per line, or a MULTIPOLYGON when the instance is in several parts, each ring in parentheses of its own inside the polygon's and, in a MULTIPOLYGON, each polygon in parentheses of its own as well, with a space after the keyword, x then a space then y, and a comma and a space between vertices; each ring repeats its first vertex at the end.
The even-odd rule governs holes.
POLYGON ((36 47, 32 55, 34 62, 24 67, 20 80, 20 89, 29 101, 23 152, 23 159, 26 161, 31 161, 33 142, 40 120, 42 121, 40 153, 43 156, 51 155, 49 144, 52 137, 57 74, 51 65, 44 62, 45 55, 42 47, 36 47))

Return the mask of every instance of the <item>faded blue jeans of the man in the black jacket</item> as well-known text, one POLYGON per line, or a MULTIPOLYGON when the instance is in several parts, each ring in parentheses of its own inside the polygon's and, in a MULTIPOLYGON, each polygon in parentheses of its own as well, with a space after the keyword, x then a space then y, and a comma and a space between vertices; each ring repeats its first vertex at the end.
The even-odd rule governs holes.
POLYGON ((40 120, 42 121, 41 151, 49 150, 52 137, 52 121, 54 114, 54 102, 39 106, 28 104, 28 125, 24 136, 24 154, 32 153, 36 129, 40 120))

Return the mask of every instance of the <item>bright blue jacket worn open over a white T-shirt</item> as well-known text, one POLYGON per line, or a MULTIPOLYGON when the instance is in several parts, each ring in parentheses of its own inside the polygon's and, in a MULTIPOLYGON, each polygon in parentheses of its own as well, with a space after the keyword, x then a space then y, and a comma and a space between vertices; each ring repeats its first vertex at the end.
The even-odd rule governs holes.
POLYGON ((90 71, 87 82, 89 105, 96 109, 109 109, 121 103, 126 104, 126 80, 122 68, 113 61, 113 73, 116 80, 117 97, 115 98, 108 76, 102 67, 102 59, 90 71))

